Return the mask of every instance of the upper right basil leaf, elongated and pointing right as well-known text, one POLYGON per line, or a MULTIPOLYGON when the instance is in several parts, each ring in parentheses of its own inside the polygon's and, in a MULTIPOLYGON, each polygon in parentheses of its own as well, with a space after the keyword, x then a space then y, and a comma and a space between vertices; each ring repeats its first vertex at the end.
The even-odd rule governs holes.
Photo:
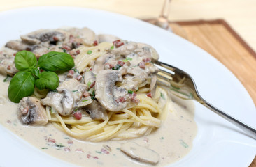
POLYGON ((50 51, 38 59, 38 67, 45 71, 68 71, 74 65, 73 58, 64 52, 50 51))

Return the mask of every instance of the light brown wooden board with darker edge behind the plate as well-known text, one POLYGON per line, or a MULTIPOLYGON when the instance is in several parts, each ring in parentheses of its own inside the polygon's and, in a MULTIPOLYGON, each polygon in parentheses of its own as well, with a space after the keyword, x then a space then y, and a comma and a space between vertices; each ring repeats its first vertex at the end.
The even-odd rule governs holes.
MULTIPOLYGON (((173 33, 190 40, 224 64, 256 104, 256 53, 222 19, 171 22, 173 33)), ((250 167, 256 167, 256 157, 250 167)))

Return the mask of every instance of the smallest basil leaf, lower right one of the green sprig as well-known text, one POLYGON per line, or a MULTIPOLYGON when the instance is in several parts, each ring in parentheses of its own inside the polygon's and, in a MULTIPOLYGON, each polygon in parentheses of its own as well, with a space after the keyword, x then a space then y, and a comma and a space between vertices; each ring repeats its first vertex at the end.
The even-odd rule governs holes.
POLYGON ((55 72, 41 72, 39 79, 36 79, 36 87, 40 90, 55 90, 59 86, 59 77, 55 72))

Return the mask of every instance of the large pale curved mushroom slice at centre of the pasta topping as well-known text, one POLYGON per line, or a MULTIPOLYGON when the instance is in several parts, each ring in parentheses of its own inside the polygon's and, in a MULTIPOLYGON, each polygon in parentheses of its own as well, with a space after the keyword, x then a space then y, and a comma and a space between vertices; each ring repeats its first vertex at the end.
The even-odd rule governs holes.
POLYGON ((96 76, 95 97, 109 111, 120 111, 127 106, 127 90, 115 86, 117 81, 122 81, 122 74, 116 70, 101 70, 96 76))

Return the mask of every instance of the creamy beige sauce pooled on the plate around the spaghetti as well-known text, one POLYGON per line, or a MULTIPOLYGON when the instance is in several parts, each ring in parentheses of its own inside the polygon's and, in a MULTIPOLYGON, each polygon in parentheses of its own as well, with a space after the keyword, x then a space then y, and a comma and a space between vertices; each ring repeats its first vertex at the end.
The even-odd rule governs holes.
MULTIPOLYGON (((39 150, 78 166, 145 166, 120 151, 120 145, 126 141, 90 143, 67 136, 50 123, 45 127, 22 125, 17 118, 17 104, 8 100, 9 81, 3 82, 3 79, 5 77, 0 75, 1 125, 39 150), (55 143, 51 142, 53 139, 55 143)), ((155 166, 166 166, 185 157, 192 149, 197 134, 193 102, 175 97, 172 99, 162 126, 149 136, 131 140, 159 154, 159 163, 155 166)))

